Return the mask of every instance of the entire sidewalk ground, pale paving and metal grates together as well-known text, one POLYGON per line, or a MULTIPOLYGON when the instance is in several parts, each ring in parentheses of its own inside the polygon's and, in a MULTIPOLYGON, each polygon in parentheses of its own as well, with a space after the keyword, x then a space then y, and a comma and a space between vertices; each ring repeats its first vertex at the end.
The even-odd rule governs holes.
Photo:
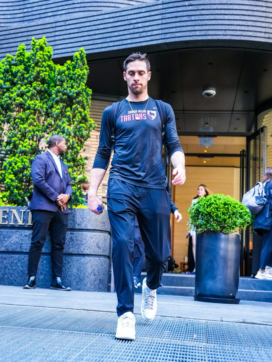
POLYGON ((272 304, 158 295, 136 340, 116 340, 116 294, 0 286, 0 361, 272 361, 272 304))

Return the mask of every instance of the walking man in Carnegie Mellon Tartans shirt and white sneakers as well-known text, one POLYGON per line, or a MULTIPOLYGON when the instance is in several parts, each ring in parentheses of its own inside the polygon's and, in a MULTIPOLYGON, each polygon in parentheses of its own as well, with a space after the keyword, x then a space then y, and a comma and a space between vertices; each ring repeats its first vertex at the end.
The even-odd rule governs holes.
MULTIPOLYGON (((151 78, 149 60, 139 52, 124 62, 128 97, 119 104, 116 118, 114 157, 108 180, 108 216, 112 228, 112 264, 118 298, 116 338, 135 339, 133 283, 133 226, 135 215, 148 260, 143 281, 141 314, 152 321, 156 315, 156 289, 170 255, 170 203, 162 161, 162 125, 156 102, 148 96, 151 78)), ((165 140, 174 167, 173 185, 185 182, 184 153, 170 105, 166 111, 165 140)), ((99 147, 95 156, 88 191, 88 208, 100 214, 104 207, 97 197, 111 154, 110 114, 102 115, 99 147), (99 207, 98 207, 99 206, 99 207)))

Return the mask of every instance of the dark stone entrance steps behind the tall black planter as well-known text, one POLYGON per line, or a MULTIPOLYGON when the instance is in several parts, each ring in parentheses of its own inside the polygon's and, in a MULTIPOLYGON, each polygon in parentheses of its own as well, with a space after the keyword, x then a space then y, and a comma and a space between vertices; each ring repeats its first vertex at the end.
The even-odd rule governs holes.
MULTIPOLYGON (((141 283, 145 277, 146 273, 141 273, 141 283)), ((163 286, 158 288, 157 294, 193 296, 195 294, 194 284, 194 275, 165 273, 162 276, 163 286)), ((141 293, 141 291, 141 286, 135 288, 135 293, 141 293)), ((272 302, 272 281, 240 277, 236 298, 257 302, 272 302)))

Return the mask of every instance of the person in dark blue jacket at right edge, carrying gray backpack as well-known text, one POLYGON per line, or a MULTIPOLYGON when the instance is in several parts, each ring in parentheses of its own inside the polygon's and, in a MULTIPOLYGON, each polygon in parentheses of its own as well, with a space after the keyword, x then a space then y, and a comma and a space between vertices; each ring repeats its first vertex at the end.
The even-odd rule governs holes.
POLYGON ((254 230, 258 235, 263 236, 260 269, 255 278, 272 281, 272 167, 265 172, 263 182, 266 182, 264 191, 267 203, 256 215, 254 221, 254 230))

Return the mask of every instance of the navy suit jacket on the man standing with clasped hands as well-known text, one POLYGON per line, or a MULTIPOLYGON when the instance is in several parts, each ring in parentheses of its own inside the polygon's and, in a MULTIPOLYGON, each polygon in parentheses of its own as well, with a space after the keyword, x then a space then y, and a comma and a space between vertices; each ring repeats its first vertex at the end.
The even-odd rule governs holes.
MULTIPOLYGON (((34 189, 28 206, 29 210, 57 211, 59 206, 55 203, 55 199, 58 195, 72 195, 72 185, 68 167, 63 161, 61 161, 61 169, 62 178, 49 152, 44 152, 34 157, 31 165, 34 189)), ((62 212, 68 214, 67 204, 66 210, 62 212)))

